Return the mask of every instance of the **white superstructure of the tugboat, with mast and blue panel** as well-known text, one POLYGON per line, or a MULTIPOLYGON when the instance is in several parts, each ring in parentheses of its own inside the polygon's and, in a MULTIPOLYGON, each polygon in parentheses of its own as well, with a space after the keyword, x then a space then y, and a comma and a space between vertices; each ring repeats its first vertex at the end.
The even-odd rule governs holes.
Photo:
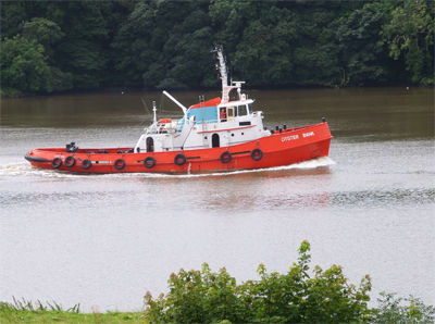
POLYGON ((225 58, 222 47, 213 51, 219 60, 222 79, 222 98, 185 108, 166 91, 163 94, 173 100, 182 110, 181 120, 156 119, 145 128, 135 152, 163 152, 177 150, 208 149, 228 147, 256 140, 271 133, 263 128, 261 111, 253 111, 253 100, 241 94, 243 82, 233 82, 228 86, 225 58), (237 90, 237 100, 229 101, 229 92, 237 90))

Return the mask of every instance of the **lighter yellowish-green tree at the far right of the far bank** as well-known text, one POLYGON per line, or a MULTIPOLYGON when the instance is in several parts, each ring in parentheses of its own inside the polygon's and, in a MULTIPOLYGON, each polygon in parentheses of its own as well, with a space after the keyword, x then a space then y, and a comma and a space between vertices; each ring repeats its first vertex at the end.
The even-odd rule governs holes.
POLYGON ((395 60, 405 58, 412 83, 423 78, 434 82, 434 2, 405 1, 384 25, 382 41, 388 43, 395 60))

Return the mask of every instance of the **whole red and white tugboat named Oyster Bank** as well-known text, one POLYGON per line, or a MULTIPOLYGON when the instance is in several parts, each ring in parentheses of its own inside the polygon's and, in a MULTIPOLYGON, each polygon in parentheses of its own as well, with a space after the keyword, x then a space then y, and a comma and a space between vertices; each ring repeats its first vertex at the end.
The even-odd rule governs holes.
POLYGON ((228 85, 222 46, 211 52, 219 60, 222 98, 186 108, 163 91, 184 116, 158 120, 153 102, 153 122, 135 147, 80 149, 71 142, 66 148, 34 149, 25 159, 36 167, 72 173, 196 174, 283 166, 328 155, 333 137, 324 119, 314 125, 266 129, 263 112, 253 111, 254 100, 241 94, 244 82, 228 85), (233 90, 237 98, 232 101, 233 90))

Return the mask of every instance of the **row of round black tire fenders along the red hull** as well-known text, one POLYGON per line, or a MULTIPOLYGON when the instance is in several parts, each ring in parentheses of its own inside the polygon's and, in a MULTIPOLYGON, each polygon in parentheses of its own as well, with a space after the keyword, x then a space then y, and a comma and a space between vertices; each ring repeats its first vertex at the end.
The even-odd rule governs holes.
MULTIPOLYGON (((221 154, 221 161, 222 163, 228 163, 232 160, 232 153, 229 153, 228 151, 225 151, 221 154)), ((254 149, 251 151, 251 158, 254 161, 260 161, 263 158, 263 152, 260 149, 254 149)), ((156 165, 156 159, 152 157, 148 157, 144 160, 144 165, 147 169, 151 169, 156 165)), ((76 163, 76 160, 73 155, 66 157, 64 162, 62 162, 61 158, 54 158, 53 160, 51 160, 51 166, 53 169, 59 169, 62 166, 62 163, 65 163, 66 167, 73 167, 76 163)), ((186 157, 184 155, 184 153, 179 153, 176 154, 174 158, 174 163, 176 165, 183 165, 184 163, 186 163, 186 157)), ((92 162, 88 159, 85 159, 82 161, 82 167, 84 170, 88 170, 92 166, 92 162)), ((125 167, 125 161, 123 159, 117 159, 114 163, 113 163, 113 167, 116 170, 123 170, 125 167)))

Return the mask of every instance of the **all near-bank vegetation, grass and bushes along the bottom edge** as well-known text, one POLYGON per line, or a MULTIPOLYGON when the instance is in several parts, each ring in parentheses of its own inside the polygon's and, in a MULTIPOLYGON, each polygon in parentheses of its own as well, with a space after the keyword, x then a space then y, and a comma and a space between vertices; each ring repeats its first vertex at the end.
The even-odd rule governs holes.
POLYGON ((333 265, 308 274, 311 246, 302 241, 298 261, 288 273, 268 273, 260 264, 260 279, 237 285, 225 270, 217 273, 204 263, 201 271, 171 274, 170 292, 158 298, 147 292, 140 312, 80 313, 76 304, 67 310, 55 302, 44 306, 26 300, 0 302, 0 322, 12 323, 353 323, 434 324, 435 308, 419 298, 381 292, 377 307, 369 308, 371 278, 358 287, 348 283, 343 267, 333 265))

